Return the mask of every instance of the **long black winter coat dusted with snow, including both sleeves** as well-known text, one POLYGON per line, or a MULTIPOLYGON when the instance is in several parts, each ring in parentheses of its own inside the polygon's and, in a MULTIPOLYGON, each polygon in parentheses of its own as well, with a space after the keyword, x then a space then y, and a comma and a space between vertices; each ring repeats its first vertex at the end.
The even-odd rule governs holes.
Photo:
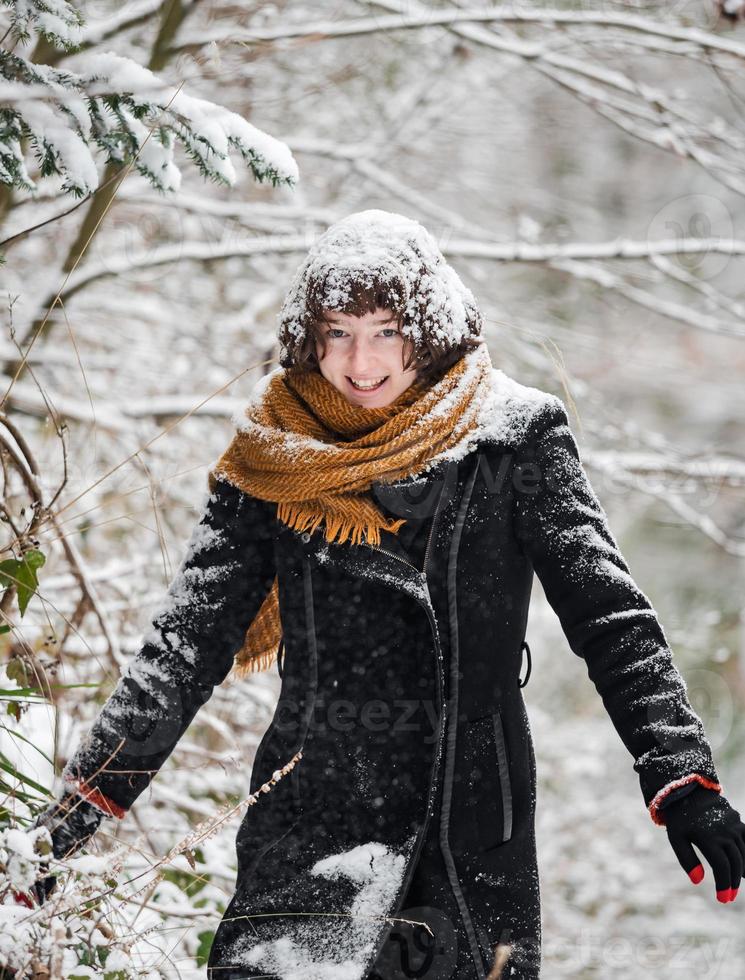
POLYGON ((645 804, 690 773, 718 781, 564 403, 508 381, 491 434, 423 475, 374 485, 387 513, 409 519, 381 547, 298 534, 276 505, 220 481, 168 602, 68 763, 68 779, 126 811, 226 677, 278 574, 282 686, 250 791, 298 749, 302 759, 238 829, 214 980, 539 976, 521 690, 534 571, 645 804), (510 954, 501 973, 498 946, 510 954))

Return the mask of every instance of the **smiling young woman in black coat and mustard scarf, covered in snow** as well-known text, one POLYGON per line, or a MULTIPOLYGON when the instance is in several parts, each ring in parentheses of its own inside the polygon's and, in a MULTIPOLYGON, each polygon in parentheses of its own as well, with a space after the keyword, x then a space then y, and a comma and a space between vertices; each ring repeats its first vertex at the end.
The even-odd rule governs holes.
POLYGON ((539 976, 534 572, 652 821, 737 893, 745 826, 564 403, 493 368, 481 326, 417 222, 319 239, 168 601, 40 818, 59 852, 123 818, 231 667, 276 659, 250 791, 287 774, 238 829, 215 980, 539 976))

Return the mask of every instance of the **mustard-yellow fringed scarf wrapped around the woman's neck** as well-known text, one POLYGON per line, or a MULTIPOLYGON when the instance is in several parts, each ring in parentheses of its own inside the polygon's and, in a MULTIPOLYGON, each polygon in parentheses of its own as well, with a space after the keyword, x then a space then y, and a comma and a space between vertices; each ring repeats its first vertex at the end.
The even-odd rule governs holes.
MULTIPOLYGON (((435 384, 413 382, 383 408, 355 405, 318 371, 277 368, 257 385, 233 440, 209 473, 277 504, 296 531, 329 542, 380 544, 398 531, 368 492, 419 473, 467 438, 490 390, 486 344, 470 351, 435 384), (262 383, 263 382, 263 383, 262 383)), ((233 678, 265 670, 276 658, 282 625, 277 579, 235 656, 233 678)))

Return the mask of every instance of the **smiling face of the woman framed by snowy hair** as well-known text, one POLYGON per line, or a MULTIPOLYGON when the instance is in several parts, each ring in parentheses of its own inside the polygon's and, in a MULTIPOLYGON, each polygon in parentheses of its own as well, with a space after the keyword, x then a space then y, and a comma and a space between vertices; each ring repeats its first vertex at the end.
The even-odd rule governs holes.
POLYGON ((374 313, 351 316, 326 310, 328 325, 322 330, 326 353, 321 356, 316 343, 316 356, 321 374, 354 405, 383 408, 405 391, 416 379, 416 361, 402 368, 404 337, 399 332, 392 310, 378 307, 374 313), (372 388, 355 386, 357 381, 372 388))

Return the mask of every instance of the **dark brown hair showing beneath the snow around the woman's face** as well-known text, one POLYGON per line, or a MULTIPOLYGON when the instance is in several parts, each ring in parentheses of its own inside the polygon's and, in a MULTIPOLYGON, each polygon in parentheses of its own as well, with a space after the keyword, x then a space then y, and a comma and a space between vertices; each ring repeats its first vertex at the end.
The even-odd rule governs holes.
MULTIPOLYGON (((308 284, 300 317, 303 327, 300 339, 287 329, 280 330, 282 352, 279 362, 282 367, 292 367, 300 371, 319 370, 316 342, 323 356, 326 351, 326 336, 323 328, 329 325, 326 318, 327 311, 346 313, 349 316, 364 316, 365 313, 374 313, 377 309, 390 309, 396 316, 399 330, 410 322, 407 316, 404 284, 397 282, 395 278, 391 280, 376 276, 371 282, 353 279, 347 285, 346 301, 334 303, 333 307, 330 305, 326 285, 325 279, 321 282, 311 280, 308 284)), ((422 296, 420 299, 418 314, 422 313, 426 298, 422 296)), ((408 370, 416 364, 417 382, 425 386, 434 384, 468 351, 483 343, 483 339, 477 339, 481 333, 481 315, 475 306, 470 307, 468 313, 467 326, 471 335, 464 336, 455 345, 438 344, 431 333, 425 331, 422 342, 417 346, 411 337, 404 334, 402 367, 408 370)))

